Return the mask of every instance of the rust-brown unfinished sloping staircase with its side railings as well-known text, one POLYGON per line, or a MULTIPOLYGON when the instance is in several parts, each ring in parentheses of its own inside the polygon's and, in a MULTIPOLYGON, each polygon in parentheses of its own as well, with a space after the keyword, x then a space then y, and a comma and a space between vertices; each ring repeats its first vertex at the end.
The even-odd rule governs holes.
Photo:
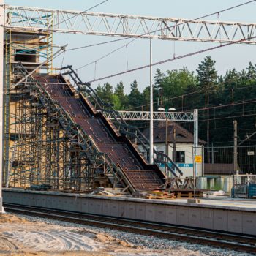
MULTIPOLYGON (((50 148, 56 147, 56 140, 53 145, 52 139, 45 138, 50 143, 48 148, 52 152, 48 153, 50 163, 43 173, 45 181, 54 181, 56 188, 64 188, 65 182, 69 181, 69 189, 86 192, 102 186, 104 177, 108 178, 111 187, 131 193, 163 188, 165 175, 157 165, 148 165, 131 143, 136 138, 148 151, 147 138, 136 127, 120 119, 118 112, 110 105, 102 102, 89 84, 82 83, 72 67, 65 67, 63 71, 62 75, 29 75, 19 85, 23 89, 29 89, 30 102, 34 106, 40 105, 40 108, 45 109, 47 126, 59 125, 61 133, 65 135, 62 140, 69 140, 69 148, 65 149, 69 151, 69 160, 61 166, 61 185, 59 174, 53 173, 50 178, 47 173, 51 166, 57 168, 58 165, 58 157, 54 155, 53 148, 50 148), (64 79, 64 75, 69 75, 70 79, 64 79), (116 117, 117 125, 105 118, 105 113, 116 117)), ((28 75, 22 64, 15 67, 15 72, 18 78, 28 75)), ((48 135, 49 133, 46 137, 48 135)), ((50 136, 55 138, 56 133, 50 132, 50 136)), ((155 163, 162 162, 160 159, 165 157, 168 162, 163 163, 173 176, 182 174, 169 157, 157 151, 154 153, 157 156, 155 163)), ((31 184, 34 184, 33 180, 31 184)))

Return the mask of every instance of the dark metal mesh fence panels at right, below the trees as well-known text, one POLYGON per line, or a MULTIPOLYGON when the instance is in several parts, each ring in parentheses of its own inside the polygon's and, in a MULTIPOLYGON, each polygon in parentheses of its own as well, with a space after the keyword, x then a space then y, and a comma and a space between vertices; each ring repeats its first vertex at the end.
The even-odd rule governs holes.
MULTIPOLYGON (((204 164, 205 169, 210 164, 225 166, 226 170, 230 170, 230 174, 235 173, 234 147, 205 147, 204 148, 204 164)), ((256 145, 255 146, 238 146, 237 148, 238 170, 241 173, 256 174, 256 145)), ((211 166, 214 166, 211 165, 211 166)), ((228 173, 227 173, 228 174, 228 173)))

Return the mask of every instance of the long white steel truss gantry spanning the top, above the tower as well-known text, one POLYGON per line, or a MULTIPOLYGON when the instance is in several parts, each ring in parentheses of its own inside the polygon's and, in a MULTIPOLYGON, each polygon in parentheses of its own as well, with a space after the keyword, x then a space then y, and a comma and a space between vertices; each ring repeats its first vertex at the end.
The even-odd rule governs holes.
POLYGON ((5 29, 195 42, 255 44, 256 23, 4 6, 5 29), (49 22, 50 20, 50 22, 49 22))

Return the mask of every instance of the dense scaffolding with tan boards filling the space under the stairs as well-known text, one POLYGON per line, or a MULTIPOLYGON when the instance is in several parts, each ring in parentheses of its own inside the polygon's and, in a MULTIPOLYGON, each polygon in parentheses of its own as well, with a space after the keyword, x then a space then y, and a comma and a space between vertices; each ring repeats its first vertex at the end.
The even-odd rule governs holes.
MULTIPOLYGON (((22 66, 21 66, 22 67, 22 66)), ((13 68, 12 76, 19 80, 26 69, 13 68)), ((48 94, 34 80, 26 80, 12 89, 12 113, 9 166, 6 187, 39 187, 90 192, 94 170, 78 145, 78 137, 61 125, 48 94)))

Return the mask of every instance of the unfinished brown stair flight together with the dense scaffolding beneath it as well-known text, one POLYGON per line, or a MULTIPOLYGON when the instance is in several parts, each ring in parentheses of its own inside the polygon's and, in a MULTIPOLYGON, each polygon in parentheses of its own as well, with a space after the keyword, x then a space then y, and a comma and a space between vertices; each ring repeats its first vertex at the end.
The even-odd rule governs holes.
POLYGON ((81 192, 113 187, 134 193, 167 189, 159 162, 173 176, 182 175, 169 157, 157 151, 155 164, 148 165, 132 143, 139 141, 148 151, 147 138, 117 118, 118 112, 102 102, 89 84, 82 83, 72 67, 63 68, 62 73, 30 75, 20 63, 13 69, 16 85, 10 102, 15 104, 15 115, 10 127, 14 143, 6 187, 45 186, 81 192), (115 120, 108 120, 104 113, 115 120))

